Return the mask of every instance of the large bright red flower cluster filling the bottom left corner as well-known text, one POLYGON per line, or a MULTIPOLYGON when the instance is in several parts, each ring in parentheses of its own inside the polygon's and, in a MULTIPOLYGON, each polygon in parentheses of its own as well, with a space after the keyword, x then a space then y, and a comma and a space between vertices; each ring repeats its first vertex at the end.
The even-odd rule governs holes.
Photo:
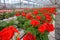
POLYGON ((18 30, 14 28, 14 26, 4 28, 2 31, 0 31, 0 40, 10 40, 15 32, 19 33, 18 30))

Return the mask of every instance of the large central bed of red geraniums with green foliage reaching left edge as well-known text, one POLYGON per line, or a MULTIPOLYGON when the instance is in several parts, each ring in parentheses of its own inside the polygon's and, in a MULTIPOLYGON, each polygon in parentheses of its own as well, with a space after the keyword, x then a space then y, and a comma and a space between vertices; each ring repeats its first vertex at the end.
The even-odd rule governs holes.
POLYGON ((40 10, 29 10, 16 12, 16 20, 9 22, 0 21, 0 30, 14 25, 14 27, 25 30, 23 40, 49 40, 49 32, 54 31, 53 15, 56 13, 53 8, 41 8, 40 10))

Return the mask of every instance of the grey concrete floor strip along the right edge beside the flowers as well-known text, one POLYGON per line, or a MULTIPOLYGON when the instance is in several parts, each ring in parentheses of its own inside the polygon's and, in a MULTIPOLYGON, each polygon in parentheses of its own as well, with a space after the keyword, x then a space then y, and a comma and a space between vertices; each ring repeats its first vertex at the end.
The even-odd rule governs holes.
POLYGON ((56 31, 55 31, 55 38, 56 40, 60 40, 60 9, 57 9, 57 15, 56 15, 56 23, 55 23, 55 26, 56 26, 56 31))

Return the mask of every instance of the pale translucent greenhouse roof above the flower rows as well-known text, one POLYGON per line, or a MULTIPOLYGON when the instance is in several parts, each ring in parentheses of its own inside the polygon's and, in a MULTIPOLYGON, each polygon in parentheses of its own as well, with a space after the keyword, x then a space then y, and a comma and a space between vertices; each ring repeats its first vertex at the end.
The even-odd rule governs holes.
POLYGON ((56 2, 60 0, 0 0, 0 8, 39 8, 56 2))

